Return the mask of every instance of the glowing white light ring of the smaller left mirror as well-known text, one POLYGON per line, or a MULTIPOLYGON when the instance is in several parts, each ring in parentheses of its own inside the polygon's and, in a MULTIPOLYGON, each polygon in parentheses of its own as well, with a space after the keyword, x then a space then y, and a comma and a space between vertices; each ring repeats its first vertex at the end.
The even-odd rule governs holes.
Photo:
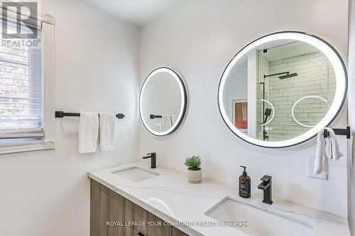
POLYGON ((171 133, 173 133, 175 130, 177 130, 180 126, 180 124, 182 123, 182 120, 185 117, 185 113, 186 113, 186 108, 187 108, 187 91, 186 91, 186 86, 185 86, 185 82, 182 79, 181 75, 176 72, 174 69, 170 69, 168 67, 159 67, 157 69, 154 69, 153 72, 151 72, 151 74, 148 74, 148 77, 146 78, 146 80, 144 80, 142 87, 141 87, 141 93, 139 94, 139 101, 138 101, 138 107, 139 107, 139 114, 141 116, 141 120, 142 123, 144 125, 144 127, 152 134, 155 136, 165 136, 165 135, 170 135, 171 133), (180 89, 180 95, 181 95, 181 105, 180 105, 180 111, 179 111, 179 115, 178 118, 175 122, 175 124, 173 124, 173 126, 168 129, 165 130, 163 132, 157 132, 155 130, 153 130, 152 128, 149 127, 148 123, 146 122, 146 120, 143 118, 143 108, 142 108, 142 94, 144 92, 144 90, 146 89, 146 85, 148 84, 148 82, 151 80, 151 78, 153 78, 153 76, 157 73, 160 72, 166 72, 168 74, 170 74, 171 76, 173 76, 173 78, 175 79, 175 81, 178 83, 179 89, 180 89))

